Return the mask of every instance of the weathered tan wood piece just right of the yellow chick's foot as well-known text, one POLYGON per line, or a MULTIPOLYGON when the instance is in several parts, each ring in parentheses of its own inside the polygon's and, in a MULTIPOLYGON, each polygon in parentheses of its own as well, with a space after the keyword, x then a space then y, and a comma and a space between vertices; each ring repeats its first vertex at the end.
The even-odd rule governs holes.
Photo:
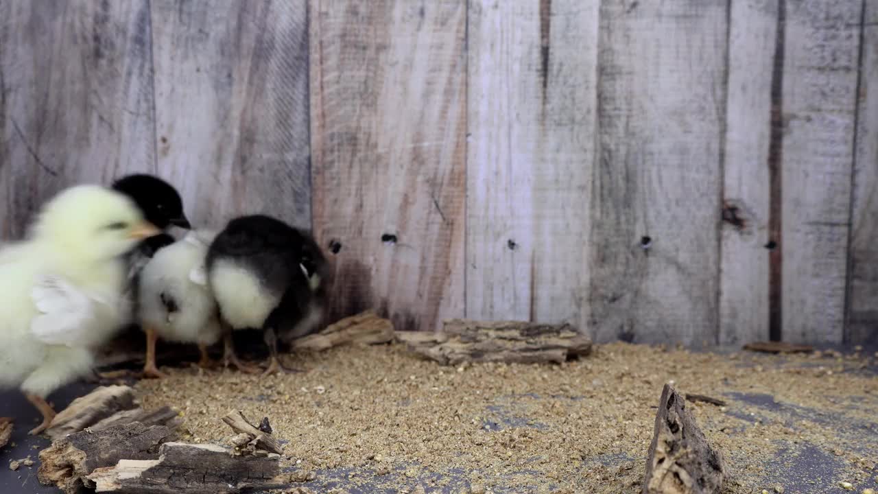
POLYGON ((154 411, 143 410, 134 402, 134 390, 128 386, 101 386, 70 403, 55 416, 46 432, 52 440, 59 440, 85 429, 95 432, 112 425, 133 422, 143 425, 169 425, 173 429, 182 420, 169 407, 154 411))

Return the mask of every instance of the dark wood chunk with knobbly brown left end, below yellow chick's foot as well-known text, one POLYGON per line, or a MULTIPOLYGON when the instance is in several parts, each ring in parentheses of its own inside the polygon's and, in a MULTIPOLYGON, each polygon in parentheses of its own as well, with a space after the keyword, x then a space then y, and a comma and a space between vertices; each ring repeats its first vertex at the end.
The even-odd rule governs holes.
POLYGON ((119 460, 154 460, 163 442, 176 439, 175 432, 164 425, 114 425, 101 431, 75 432, 40 451, 40 483, 56 485, 68 494, 75 493, 95 469, 111 467, 119 460))

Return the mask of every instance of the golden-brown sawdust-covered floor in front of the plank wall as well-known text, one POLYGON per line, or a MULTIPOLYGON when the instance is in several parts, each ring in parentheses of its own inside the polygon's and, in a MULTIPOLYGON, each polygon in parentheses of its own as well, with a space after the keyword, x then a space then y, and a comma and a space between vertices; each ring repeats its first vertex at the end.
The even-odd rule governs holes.
MULTIPOLYGON (((598 346, 561 366, 440 367, 399 345, 290 356, 259 379, 165 369, 148 408, 184 411, 188 440, 226 443, 219 417, 268 416, 285 465, 315 492, 639 492, 661 387, 692 403, 727 459, 729 493, 878 486, 875 355, 717 355, 598 346)), ((307 490, 301 490, 307 492, 307 490)))

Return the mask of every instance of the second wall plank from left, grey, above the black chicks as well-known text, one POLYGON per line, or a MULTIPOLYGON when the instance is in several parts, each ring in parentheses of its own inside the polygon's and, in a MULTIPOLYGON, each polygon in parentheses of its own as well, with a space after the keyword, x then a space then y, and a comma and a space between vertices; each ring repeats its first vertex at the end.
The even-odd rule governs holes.
POLYGON ((158 169, 198 223, 311 226, 306 0, 153 0, 158 169))

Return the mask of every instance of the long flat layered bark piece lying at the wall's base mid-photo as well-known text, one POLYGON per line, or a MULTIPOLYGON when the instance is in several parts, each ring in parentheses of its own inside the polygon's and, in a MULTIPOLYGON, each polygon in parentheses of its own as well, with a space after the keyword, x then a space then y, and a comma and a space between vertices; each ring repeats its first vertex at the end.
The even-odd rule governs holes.
POLYGON ((592 351, 592 341, 570 324, 450 319, 443 331, 397 331, 408 348, 443 365, 462 362, 561 363, 592 351))

